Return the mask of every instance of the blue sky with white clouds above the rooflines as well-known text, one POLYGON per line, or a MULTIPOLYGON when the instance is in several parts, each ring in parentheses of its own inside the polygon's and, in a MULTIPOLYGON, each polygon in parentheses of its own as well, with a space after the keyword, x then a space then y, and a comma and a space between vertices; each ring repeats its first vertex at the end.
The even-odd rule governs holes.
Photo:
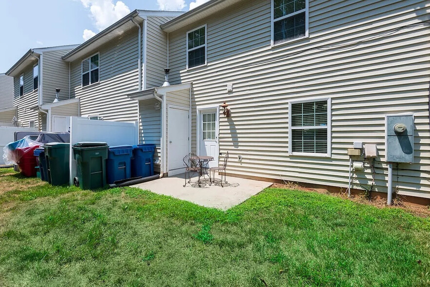
POLYGON ((135 9, 188 11, 208 0, 0 0, 0 73, 29 49, 80 44, 135 9))

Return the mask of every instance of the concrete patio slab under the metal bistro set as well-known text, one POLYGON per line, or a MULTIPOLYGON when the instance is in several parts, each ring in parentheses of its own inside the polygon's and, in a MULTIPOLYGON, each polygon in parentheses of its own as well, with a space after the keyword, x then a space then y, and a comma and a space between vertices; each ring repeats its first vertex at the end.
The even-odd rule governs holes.
MULTIPOLYGON (((196 179, 192 181, 196 181, 196 179)), ((236 177, 227 177, 227 182, 228 184, 221 187, 219 180, 215 184, 209 185, 209 180, 205 179, 201 187, 198 187, 197 184, 187 184, 186 187, 183 187, 184 177, 181 174, 133 185, 133 187, 172 196, 205 207, 227 210, 241 204, 272 184, 236 177)))

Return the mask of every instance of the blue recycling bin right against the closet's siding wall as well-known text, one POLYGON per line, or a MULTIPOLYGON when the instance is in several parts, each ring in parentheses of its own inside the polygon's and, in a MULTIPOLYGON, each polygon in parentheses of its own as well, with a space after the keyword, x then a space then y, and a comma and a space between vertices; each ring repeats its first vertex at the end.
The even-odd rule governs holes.
POLYGON ((133 145, 132 177, 154 175, 155 148, 151 143, 133 145))

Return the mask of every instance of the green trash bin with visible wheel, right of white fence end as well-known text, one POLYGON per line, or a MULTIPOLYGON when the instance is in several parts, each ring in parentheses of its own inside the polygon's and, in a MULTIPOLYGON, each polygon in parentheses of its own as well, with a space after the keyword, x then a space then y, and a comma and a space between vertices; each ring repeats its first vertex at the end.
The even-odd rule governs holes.
POLYGON ((106 185, 108 145, 101 142, 82 142, 73 145, 77 161, 77 177, 73 183, 81 189, 98 189, 106 185))

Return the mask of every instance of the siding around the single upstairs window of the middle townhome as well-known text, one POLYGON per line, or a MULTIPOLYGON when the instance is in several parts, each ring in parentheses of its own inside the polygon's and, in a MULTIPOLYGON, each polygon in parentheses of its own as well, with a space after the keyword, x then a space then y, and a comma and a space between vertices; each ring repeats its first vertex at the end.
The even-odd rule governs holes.
POLYGON ((71 97, 80 98, 82 116, 99 115, 106 121, 137 121, 137 101, 127 93, 138 89, 138 29, 133 28, 71 62, 71 97), (98 83, 81 87, 81 61, 99 52, 98 83))

